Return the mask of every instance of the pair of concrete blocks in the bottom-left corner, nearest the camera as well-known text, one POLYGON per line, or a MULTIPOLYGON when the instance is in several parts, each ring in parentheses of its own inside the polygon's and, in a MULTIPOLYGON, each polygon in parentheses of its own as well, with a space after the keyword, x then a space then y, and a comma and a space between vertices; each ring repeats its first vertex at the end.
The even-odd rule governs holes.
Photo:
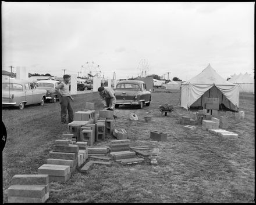
POLYGON ((45 203, 49 198, 47 174, 16 174, 8 188, 8 203, 45 203))

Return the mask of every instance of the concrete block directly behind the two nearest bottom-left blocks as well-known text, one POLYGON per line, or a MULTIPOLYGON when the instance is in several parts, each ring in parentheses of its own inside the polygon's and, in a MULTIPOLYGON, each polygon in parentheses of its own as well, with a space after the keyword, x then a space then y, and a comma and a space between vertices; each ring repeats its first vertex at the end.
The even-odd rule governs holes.
POLYGON ((71 176, 70 166, 58 164, 42 164, 38 168, 38 174, 48 174, 49 181, 67 181, 71 176))

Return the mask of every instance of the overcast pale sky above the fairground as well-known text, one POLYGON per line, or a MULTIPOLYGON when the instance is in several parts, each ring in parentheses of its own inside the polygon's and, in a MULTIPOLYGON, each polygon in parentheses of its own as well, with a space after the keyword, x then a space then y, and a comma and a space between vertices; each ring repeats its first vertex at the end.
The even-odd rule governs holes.
POLYGON ((253 76, 254 2, 2 2, 7 71, 189 80, 208 64, 253 76))

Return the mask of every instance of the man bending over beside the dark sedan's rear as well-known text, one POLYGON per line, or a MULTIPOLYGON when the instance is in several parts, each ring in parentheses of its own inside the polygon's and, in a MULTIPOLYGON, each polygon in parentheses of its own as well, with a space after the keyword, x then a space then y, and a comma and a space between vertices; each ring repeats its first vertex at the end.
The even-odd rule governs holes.
POLYGON ((115 91, 111 87, 102 86, 98 88, 98 91, 104 107, 113 111, 116 104, 115 91))

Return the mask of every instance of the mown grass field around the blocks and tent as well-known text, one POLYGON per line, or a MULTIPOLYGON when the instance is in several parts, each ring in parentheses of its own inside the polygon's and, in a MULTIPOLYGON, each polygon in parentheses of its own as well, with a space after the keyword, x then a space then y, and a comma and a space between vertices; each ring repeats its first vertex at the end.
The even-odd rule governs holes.
MULTIPOLYGON (((85 102, 95 102, 102 109, 98 93, 74 97, 74 111, 81 111, 85 102)), ((88 174, 77 169, 67 182, 51 182, 47 203, 254 203, 255 195, 255 131, 254 95, 240 95, 240 110, 245 119, 230 118, 228 131, 238 139, 215 136, 197 126, 196 131, 184 130, 181 116, 192 112, 179 107, 180 93, 152 93, 150 107, 136 109, 119 107, 115 111, 116 129, 125 129, 131 146, 148 145, 159 148, 158 166, 134 164, 111 167, 95 165, 88 174), (175 105, 170 116, 161 115, 158 106, 175 105), (129 120, 133 112, 138 121, 129 120), (144 122, 152 116, 152 122, 144 122), (150 131, 168 134, 166 142, 150 140, 150 131)), ((24 110, 2 109, 2 121, 8 133, 3 150, 3 203, 15 174, 37 174, 46 163, 54 141, 66 133, 61 124, 61 108, 56 104, 43 107, 31 105, 24 110)), ((225 112, 219 111, 219 115, 225 112)), ((109 145, 108 137, 95 145, 109 145)))

